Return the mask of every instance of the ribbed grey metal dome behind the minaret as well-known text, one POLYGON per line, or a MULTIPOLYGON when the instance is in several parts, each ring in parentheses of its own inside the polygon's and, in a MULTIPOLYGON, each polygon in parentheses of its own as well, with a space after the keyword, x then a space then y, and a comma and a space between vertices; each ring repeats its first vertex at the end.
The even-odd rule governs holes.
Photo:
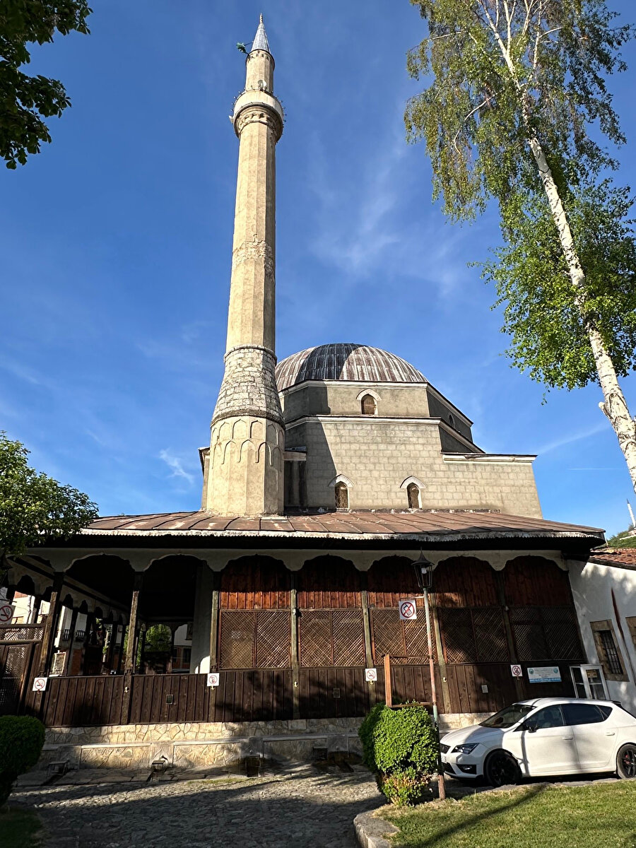
POLYGON ((346 343, 301 350, 276 365, 279 392, 305 380, 427 382, 421 371, 387 350, 346 343))

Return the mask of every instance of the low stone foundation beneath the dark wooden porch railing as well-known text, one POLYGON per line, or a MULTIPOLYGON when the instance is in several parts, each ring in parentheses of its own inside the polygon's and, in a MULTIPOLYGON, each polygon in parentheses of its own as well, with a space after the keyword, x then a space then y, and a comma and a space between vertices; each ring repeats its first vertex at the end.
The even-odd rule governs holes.
MULTIPOLYGON (((440 730, 444 734, 487 716, 447 714, 440 717, 440 730)), ((234 765, 248 756, 287 762, 311 762, 325 753, 360 756, 360 722, 361 718, 328 718, 48 728, 40 766, 68 760, 71 768, 143 769, 165 757, 170 766, 204 768, 234 765)))

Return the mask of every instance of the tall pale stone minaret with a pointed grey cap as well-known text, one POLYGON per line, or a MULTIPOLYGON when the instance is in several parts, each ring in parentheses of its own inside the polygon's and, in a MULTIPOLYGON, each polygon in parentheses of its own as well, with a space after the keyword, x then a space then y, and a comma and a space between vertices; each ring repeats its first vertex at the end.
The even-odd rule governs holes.
POLYGON ((234 105, 239 140, 226 370, 212 416, 204 509, 220 516, 282 512, 284 426, 276 389, 276 142, 282 106, 260 16, 234 105))

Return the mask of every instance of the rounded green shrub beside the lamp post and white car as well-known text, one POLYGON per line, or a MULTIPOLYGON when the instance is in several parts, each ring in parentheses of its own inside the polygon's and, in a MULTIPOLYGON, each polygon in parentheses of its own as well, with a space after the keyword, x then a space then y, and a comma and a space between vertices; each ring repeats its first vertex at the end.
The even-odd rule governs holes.
POLYGON ((404 806, 427 797, 438 766, 438 738, 425 707, 392 710, 377 704, 362 722, 359 735, 365 765, 389 801, 404 806))

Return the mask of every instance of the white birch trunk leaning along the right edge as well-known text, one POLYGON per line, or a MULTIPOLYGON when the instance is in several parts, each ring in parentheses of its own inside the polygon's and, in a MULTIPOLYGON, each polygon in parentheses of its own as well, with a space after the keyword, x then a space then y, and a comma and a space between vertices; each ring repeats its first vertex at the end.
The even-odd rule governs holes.
POLYGON ((585 330, 588 333, 589 344, 592 348, 592 354, 594 354, 594 362, 596 363, 596 371, 599 375, 600 388, 603 392, 604 401, 599 406, 605 412, 605 416, 609 418, 611 426, 614 428, 614 432, 616 432, 618 444, 620 444, 622 453, 625 456, 629 475, 632 478, 632 485, 636 491, 636 421, 633 420, 629 412, 627 401, 618 383, 616 370, 611 361, 611 356, 605 348, 603 338, 598 328, 594 326, 594 322, 590 321, 585 315, 585 272, 578 259, 577 249, 572 238, 572 231, 565 209, 563 209, 561 195, 552 176, 550 165, 548 165, 548 160, 545 158, 543 148, 538 142, 537 137, 529 137, 528 144, 537 163, 545 195, 550 204, 552 219, 559 232, 561 249, 566 259, 567 270, 570 274, 572 285, 577 290, 577 307, 582 315, 585 330))

